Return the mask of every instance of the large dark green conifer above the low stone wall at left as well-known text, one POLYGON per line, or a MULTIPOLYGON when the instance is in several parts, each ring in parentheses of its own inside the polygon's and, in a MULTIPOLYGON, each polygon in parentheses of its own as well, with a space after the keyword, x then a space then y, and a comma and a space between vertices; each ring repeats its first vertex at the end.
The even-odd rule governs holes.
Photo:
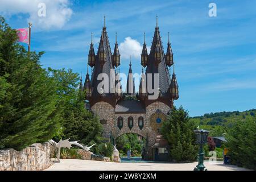
POLYGON ((28 55, 16 39, 0 17, 0 147, 21 150, 51 139, 61 117, 54 80, 39 65, 43 52, 28 55))

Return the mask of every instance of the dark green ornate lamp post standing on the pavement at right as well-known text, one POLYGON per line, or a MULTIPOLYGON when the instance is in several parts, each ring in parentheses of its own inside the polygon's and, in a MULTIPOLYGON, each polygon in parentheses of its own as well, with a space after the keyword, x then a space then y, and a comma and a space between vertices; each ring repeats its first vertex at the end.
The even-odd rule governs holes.
POLYGON ((204 146, 204 143, 207 143, 207 137, 208 137, 209 131, 194 130, 194 132, 196 134, 196 143, 200 144, 198 164, 195 167, 194 171, 207 171, 207 169, 205 169, 205 166, 204 166, 203 146, 204 146))

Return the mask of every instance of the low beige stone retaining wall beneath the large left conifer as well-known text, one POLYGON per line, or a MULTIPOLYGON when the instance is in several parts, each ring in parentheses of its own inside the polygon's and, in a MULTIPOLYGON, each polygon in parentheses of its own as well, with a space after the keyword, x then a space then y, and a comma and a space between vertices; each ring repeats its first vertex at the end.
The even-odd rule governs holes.
POLYGON ((22 151, 0 150, 0 171, 36 171, 49 167, 50 143, 35 143, 22 151))

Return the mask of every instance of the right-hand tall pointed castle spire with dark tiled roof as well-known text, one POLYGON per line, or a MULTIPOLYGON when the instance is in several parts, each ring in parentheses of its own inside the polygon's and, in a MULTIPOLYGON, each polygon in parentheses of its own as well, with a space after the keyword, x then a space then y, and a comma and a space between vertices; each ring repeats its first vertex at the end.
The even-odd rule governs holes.
MULTIPOLYGON (((168 44, 170 44, 170 41, 168 42, 168 44)), ((169 56, 172 55, 171 46, 168 47, 167 49, 167 55, 169 56)), ((167 61, 167 56, 164 55, 162 40, 160 36, 158 18, 156 18, 156 27, 155 27, 153 41, 151 44, 150 54, 148 55, 148 62, 147 62, 145 75, 147 78, 146 85, 152 86, 151 88, 155 89, 154 93, 158 92, 158 98, 155 100, 149 100, 148 97, 151 96, 152 93, 148 93, 148 90, 147 90, 146 98, 140 97, 146 106, 156 101, 160 101, 168 106, 172 106, 173 98, 175 99, 178 98, 176 97, 177 96, 177 94, 175 94, 176 92, 174 92, 173 94, 174 97, 172 97, 172 94, 170 92, 171 75, 168 71, 168 66, 171 65, 172 57, 168 57, 168 58, 170 59, 168 59, 167 61), (157 82, 155 82, 155 79, 158 79, 158 85, 156 85, 157 82), (149 81, 152 81, 151 85, 148 85, 149 81)), ((174 78, 176 80, 176 76, 174 78)), ((140 93, 140 96, 143 96, 143 95, 140 93)))

